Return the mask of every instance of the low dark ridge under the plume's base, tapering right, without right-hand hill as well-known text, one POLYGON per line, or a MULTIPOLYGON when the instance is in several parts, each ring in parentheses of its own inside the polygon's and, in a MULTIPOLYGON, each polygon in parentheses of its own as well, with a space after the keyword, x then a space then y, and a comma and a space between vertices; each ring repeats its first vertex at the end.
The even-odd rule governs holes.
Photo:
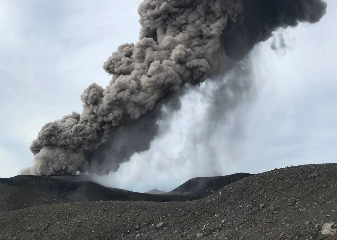
POLYGON ((0 178, 0 212, 29 206, 87 201, 190 201, 202 196, 146 194, 108 188, 73 178, 18 175, 0 178))

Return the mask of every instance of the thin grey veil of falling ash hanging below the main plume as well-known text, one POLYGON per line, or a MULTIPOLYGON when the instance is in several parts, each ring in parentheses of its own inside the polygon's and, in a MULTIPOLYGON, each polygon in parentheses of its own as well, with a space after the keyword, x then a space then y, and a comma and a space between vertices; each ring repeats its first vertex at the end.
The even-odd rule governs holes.
MULTIPOLYGON (((220 149, 230 159, 235 159, 236 149, 240 149, 240 142, 244 139, 244 129, 248 107, 254 102, 255 81, 252 74, 251 58, 235 64, 227 72, 225 77, 215 79, 213 89, 206 96, 210 99, 207 107, 203 127, 199 131, 193 131, 189 136, 193 146, 203 148, 202 158, 209 159, 214 174, 221 175, 221 166, 218 160, 223 160, 223 153, 219 155, 219 145, 214 146, 214 136, 221 134, 220 149), (223 129, 223 125, 226 128, 223 129), (225 130, 225 131, 224 131, 225 130)), ((192 149, 189 150, 193 152, 192 149)))

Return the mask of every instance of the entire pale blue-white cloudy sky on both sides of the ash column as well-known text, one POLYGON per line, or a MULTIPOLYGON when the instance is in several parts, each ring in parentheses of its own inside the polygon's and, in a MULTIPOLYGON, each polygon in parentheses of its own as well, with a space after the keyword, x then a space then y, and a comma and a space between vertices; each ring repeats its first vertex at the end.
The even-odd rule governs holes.
MULTIPOLYGON (((138 40, 140 2, 0 0, 0 177, 32 164, 29 146, 41 127, 81 112, 89 84, 108 85, 103 62, 138 40)), ((253 49, 254 94, 207 144, 202 130, 216 89, 210 81, 184 95, 149 151, 93 177, 133 191, 171 190, 197 176, 336 162, 337 2, 327 2, 321 22, 280 30, 285 49, 273 51, 273 39, 253 49)))

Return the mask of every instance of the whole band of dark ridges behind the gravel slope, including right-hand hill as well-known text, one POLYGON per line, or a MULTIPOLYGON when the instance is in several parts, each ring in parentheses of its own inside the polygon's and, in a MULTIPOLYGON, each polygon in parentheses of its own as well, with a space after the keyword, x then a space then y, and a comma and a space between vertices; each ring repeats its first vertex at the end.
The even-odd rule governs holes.
POLYGON ((33 176, 18 175, 0 178, 0 213, 44 204, 90 201, 190 201, 201 199, 211 191, 248 176, 238 173, 230 176, 204 177, 202 181, 190 179, 172 192, 137 193, 109 188, 86 175, 33 176), (208 180, 212 178, 212 180, 208 180), (92 180, 92 181, 88 181, 92 180), (209 183, 212 183, 211 186, 209 183), (181 191, 180 191, 181 190, 181 191), (183 193, 182 193, 183 191, 183 193), (158 194, 160 193, 160 195, 158 194))

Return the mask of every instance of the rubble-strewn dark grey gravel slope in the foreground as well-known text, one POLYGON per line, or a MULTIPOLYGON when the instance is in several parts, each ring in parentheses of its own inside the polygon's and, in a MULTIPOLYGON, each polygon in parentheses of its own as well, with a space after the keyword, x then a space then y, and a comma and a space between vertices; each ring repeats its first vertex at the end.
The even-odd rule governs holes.
MULTIPOLYGON (((0 216, 0 239, 329 239, 337 164, 275 169, 188 202, 82 202, 0 216)), ((332 237, 330 237, 332 239, 332 237)))

